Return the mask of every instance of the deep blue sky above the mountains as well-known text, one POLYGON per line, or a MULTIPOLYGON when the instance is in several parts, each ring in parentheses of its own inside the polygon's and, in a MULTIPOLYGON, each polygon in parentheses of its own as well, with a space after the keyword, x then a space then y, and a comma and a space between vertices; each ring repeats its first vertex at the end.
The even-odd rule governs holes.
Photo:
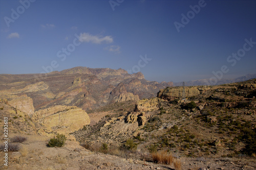
POLYGON ((255 1, 0 3, 0 74, 86 66, 180 82, 256 73, 255 1))

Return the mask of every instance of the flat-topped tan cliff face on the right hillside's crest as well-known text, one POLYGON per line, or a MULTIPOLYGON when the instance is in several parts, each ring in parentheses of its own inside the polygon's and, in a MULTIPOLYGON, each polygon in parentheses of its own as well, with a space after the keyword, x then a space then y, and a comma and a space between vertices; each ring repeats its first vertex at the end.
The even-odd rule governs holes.
MULTIPOLYGON (((161 89, 157 93, 157 96, 158 98, 167 99, 167 100, 180 99, 182 98, 182 91, 183 91, 182 86, 169 87, 169 88, 161 89)), ((200 91, 202 91, 202 89, 200 89, 199 87, 185 87, 185 96, 187 98, 190 96, 199 95, 200 91)))

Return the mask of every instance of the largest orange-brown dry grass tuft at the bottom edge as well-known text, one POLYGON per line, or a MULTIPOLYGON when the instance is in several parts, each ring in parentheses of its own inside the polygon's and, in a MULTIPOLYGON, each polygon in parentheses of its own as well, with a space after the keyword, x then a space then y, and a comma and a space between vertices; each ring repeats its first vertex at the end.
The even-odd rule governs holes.
POLYGON ((173 163, 174 157, 172 154, 167 153, 166 151, 158 151, 152 153, 153 162, 163 163, 167 165, 171 165, 173 163))

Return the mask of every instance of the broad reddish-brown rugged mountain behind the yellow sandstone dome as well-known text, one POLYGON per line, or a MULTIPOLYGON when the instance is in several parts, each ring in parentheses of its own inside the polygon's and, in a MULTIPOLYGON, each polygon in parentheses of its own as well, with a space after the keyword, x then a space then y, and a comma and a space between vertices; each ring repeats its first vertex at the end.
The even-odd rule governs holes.
MULTIPOLYGON (((141 72, 130 75, 123 69, 75 67, 41 75, 0 75, 0 98, 11 101, 14 94, 16 98, 26 96, 27 107, 31 105, 35 111, 56 105, 90 110, 113 102, 150 98, 170 85, 172 82, 147 81, 141 72)), ((15 105, 22 104, 13 101, 15 105)))

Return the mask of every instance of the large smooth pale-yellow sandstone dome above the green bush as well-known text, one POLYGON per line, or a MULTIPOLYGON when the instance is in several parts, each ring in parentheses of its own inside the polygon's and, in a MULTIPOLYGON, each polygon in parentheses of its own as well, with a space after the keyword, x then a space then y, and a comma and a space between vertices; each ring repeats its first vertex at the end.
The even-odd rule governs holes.
POLYGON ((88 114, 76 106, 54 106, 38 110, 32 117, 55 132, 70 133, 90 124, 88 114))

